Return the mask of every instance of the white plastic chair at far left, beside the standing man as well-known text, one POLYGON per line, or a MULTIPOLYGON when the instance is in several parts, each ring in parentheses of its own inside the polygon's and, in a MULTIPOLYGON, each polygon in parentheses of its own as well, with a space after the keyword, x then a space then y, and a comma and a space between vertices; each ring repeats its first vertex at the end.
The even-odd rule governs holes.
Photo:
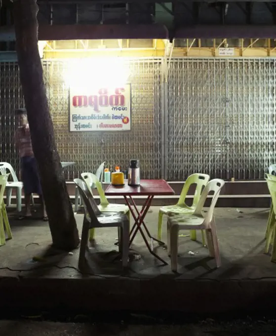
POLYGON ((12 177, 11 182, 7 182, 6 184, 6 205, 10 206, 11 201, 11 192, 12 188, 16 189, 16 210, 20 212, 22 210, 22 188, 23 182, 18 181, 16 173, 10 164, 7 162, 0 162, 0 174, 10 173, 12 177))

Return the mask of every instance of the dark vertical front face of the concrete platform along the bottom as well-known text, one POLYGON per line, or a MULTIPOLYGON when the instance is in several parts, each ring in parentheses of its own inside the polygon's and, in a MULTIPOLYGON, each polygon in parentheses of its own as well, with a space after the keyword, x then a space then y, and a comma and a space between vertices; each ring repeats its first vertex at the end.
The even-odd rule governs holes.
POLYGON ((231 313, 274 308, 274 280, 0 278, 0 309, 179 310, 231 313))

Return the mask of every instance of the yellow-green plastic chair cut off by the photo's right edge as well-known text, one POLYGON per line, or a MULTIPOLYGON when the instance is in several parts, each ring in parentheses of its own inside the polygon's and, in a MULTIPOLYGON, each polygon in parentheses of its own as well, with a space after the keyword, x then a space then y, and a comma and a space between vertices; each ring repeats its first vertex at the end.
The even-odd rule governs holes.
POLYGON ((275 235, 275 228, 276 228, 276 178, 272 178, 270 174, 267 174, 267 184, 269 188, 269 192, 272 198, 272 213, 270 213, 270 218, 267 225, 266 230, 266 246, 264 253, 268 253, 270 244, 272 244, 272 254, 271 254, 271 261, 276 262, 276 235, 275 235))

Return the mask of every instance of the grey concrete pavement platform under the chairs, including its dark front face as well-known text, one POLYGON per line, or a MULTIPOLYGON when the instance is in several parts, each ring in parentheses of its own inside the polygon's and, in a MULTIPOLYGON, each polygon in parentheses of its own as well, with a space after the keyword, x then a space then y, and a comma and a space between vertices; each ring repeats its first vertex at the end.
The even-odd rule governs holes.
MULTIPOLYGON (((161 265, 146 249, 138 233, 133 250, 141 253, 122 272, 114 261, 116 229, 98 229, 90 268, 78 270, 79 250, 53 252, 48 224, 18 221, 9 213, 13 239, 0 247, 0 308, 182 310, 221 313, 274 307, 276 264, 263 254, 268 209, 215 210, 222 267, 201 242, 180 238, 179 273, 161 265), (188 252, 194 252, 190 255, 188 252), (34 261, 34 256, 40 256, 34 261)), ((76 219, 81 233, 83 215, 76 219)), ((158 208, 146 223, 157 233, 158 208)), ((165 218, 163 240, 166 241, 165 218)), ((198 234, 200 239, 200 234, 198 234)), ((169 261, 166 249, 156 252, 169 261)))

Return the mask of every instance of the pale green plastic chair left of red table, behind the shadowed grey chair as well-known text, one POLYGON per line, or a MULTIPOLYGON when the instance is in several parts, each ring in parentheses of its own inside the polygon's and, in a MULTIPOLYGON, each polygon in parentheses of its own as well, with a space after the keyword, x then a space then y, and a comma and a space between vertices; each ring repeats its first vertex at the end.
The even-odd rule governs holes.
MULTIPOLYGON (((94 186, 96 187, 98 194, 100 196, 100 205, 98 206, 98 208, 101 212, 120 212, 126 214, 128 220, 130 220, 130 210, 128 206, 124 204, 109 203, 105 196, 102 184, 96 175, 92 174, 91 172, 83 172, 81 174, 81 177, 92 195, 93 195, 92 188, 94 186)), ((95 229, 92 228, 89 231, 89 240, 90 241, 94 240, 94 237, 95 237, 95 229)))

